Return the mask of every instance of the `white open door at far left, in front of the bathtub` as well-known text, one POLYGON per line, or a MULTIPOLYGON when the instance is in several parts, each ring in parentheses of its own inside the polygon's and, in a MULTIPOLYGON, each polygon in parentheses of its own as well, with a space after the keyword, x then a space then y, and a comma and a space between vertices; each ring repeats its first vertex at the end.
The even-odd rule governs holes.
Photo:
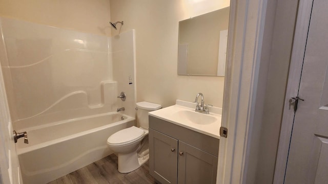
POLYGON ((16 184, 20 183, 21 180, 12 132, 0 64, 0 183, 16 184))

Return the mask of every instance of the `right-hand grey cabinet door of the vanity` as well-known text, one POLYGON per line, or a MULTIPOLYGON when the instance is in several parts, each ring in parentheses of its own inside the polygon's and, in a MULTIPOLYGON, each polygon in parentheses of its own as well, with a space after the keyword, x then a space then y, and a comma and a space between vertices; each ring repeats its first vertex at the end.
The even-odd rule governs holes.
POLYGON ((179 141, 178 183, 215 183, 217 157, 179 141))

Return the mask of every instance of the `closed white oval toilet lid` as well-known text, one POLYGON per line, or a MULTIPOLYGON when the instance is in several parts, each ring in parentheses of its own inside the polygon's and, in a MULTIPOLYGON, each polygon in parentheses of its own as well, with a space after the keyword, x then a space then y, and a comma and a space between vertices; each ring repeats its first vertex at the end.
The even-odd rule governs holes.
POLYGON ((130 128, 126 128, 123 130, 119 130, 118 132, 112 134, 108 140, 107 144, 110 146, 121 146, 129 143, 133 143, 140 138, 142 138, 145 134, 144 130, 132 126, 130 128))

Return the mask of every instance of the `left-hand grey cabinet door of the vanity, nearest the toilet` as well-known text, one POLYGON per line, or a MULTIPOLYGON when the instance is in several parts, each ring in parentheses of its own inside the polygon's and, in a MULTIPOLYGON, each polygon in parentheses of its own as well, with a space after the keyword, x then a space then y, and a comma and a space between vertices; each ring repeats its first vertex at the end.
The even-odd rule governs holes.
POLYGON ((149 129, 149 173, 162 184, 177 183, 178 140, 149 129))

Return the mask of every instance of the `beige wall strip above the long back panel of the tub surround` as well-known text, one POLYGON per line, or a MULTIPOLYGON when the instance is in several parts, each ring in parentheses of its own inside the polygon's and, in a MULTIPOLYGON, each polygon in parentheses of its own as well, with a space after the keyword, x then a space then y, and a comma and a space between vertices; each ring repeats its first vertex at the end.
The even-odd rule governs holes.
POLYGON ((111 35, 108 0, 0 0, 0 16, 99 35, 111 35))

